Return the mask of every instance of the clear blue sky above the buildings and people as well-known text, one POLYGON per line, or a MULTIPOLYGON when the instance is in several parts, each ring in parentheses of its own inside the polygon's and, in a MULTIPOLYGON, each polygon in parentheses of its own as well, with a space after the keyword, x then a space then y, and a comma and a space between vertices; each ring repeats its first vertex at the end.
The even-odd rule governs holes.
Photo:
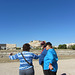
POLYGON ((32 40, 75 43, 75 0, 0 0, 0 43, 32 40))

